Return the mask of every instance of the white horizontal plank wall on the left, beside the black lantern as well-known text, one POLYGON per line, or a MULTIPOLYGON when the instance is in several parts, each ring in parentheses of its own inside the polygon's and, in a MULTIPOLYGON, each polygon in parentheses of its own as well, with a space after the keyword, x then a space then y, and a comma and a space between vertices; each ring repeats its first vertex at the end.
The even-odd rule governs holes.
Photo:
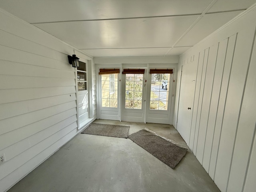
MULTIPOLYGON (((0 191, 78 133, 74 48, 0 10, 0 191)), ((89 58, 84 55, 84 58, 89 58)))

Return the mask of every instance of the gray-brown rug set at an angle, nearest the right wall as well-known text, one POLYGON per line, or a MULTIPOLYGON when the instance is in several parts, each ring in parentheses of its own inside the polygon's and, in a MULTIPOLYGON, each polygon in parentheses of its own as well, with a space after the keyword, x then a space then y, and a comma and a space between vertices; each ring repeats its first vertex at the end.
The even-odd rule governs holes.
POLYGON ((128 138, 173 169, 187 152, 186 148, 177 146, 146 130, 140 130, 129 135, 128 138))

